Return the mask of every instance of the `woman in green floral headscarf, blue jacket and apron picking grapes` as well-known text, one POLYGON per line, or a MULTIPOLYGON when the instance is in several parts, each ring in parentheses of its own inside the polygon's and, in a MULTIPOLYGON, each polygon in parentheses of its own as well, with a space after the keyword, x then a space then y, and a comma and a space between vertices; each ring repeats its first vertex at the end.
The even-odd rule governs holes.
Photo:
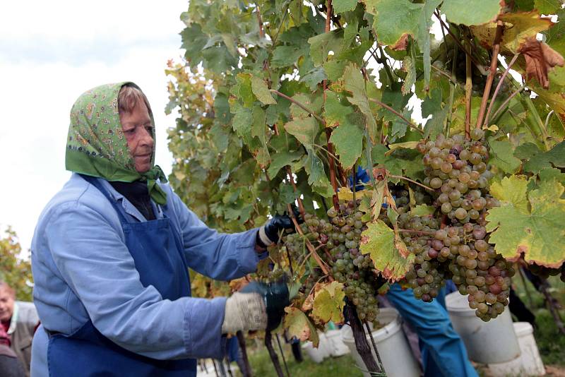
POLYGON ((73 174, 32 240, 42 323, 33 377, 196 376, 197 358, 225 354, 225 334, 266 328, 261 294, 190 297, 188 268, 219 280, 252 273, 290 219, 237 234, 209 229, 165 184, 154 140, 148 100, 133 83, 75 102, 73 174))

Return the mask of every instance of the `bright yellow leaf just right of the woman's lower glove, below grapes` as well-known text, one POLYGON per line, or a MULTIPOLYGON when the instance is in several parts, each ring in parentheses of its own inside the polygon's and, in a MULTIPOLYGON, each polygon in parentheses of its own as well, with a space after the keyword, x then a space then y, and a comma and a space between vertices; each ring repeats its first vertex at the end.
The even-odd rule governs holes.
POLYGON ((317 323, 343 323, 343 307, 345 306, 343 284, 333 281, 323 285, 314 296, 311 316, 317 323))

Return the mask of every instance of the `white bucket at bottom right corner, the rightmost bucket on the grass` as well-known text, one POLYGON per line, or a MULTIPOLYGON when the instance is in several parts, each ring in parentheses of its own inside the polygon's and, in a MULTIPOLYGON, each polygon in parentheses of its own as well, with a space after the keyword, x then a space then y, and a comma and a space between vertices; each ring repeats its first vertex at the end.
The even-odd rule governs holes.
POLYGON ((492 377, 543 376, 545 367, 537 349, 532 325, 528 322, 516 322, 514 331, 518 337, 521 355, 505 363, 489 364, 489 375, 492 377))

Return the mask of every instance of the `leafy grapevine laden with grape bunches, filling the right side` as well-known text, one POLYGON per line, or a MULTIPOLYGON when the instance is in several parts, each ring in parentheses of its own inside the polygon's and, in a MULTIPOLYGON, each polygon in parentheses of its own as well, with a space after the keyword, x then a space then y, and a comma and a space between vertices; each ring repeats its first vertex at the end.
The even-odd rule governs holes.
POLYGON ((170 180, 226 232, 299 207, 252 277, 295 288, 283 327, 316 343, 446 280, 489 321, 517 263, 564 279, 565 11, 534 3, 191 1, 170 180))

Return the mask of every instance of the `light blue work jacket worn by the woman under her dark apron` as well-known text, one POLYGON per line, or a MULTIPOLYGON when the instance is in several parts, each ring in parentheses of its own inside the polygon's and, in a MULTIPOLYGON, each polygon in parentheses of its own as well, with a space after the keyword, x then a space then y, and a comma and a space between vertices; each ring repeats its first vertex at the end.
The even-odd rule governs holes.
MULTIPOLYGON (((145 221, 124 196, 101 181, 126 213, 145 221)), ((256 270, 256 229, 220 234, 198 220, 170 186, 161 187, 190 268, 218 280, 256 270)), ((162 210, 153 205, 156 217, 162 218, 162 210)), ((169 301, 153 286, 143 287, 116 211, 78 174, 40 215, 32 240, 32 272, 42 322, 32 345, 32 376, 47 373, 48 337, 43 328, 69 335, 89 318, 102 335, 143 356, 222 357, 225 298, 169 301)))

